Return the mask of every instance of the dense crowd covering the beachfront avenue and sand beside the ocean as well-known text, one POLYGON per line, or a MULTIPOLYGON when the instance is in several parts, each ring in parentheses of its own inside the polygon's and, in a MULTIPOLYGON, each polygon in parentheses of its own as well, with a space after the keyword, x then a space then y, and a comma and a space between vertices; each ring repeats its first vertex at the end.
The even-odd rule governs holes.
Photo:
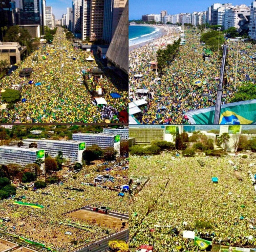
MULTIPOLYGON (((191 29, 185 30, 185 44, 175 60, 158 73, 152 70, 150 62, 156 61, 156 52, 176 40, 181 32, 177 28, 165 28, 162 37, 130 52, 130 100, 146 99, 146 106, 135 117, 142 124, 187 124, 185 112, 215 106, 221 62, 218 52, 210 61, 204 61, 200 35, 191 29), (135 75, 143 75, 135 77, 135 75), (194 85, 200 80, 202 86, 194 85), (148 89, 148 95, 137 94, 138 89, 148 89)), ((255 48, 246 41, 239 42, 237 84, 236 75, 237 42, 228 42, 227 83, 223 89, 222 103, 230 103, 237 88, 246 81, 255 83, 255 48)))

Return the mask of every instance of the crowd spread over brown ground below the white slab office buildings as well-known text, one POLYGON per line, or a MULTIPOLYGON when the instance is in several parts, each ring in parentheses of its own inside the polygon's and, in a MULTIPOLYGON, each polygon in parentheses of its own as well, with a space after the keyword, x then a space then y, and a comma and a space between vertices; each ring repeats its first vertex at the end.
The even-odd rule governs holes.
POLYGON ((4 227, 7 227, 6 231, 43 243, 57 251, 71 251, 75 247, 116 233, 117 230, 112 227, 97 225, 90 221, 70 219, 66 215, 67 212, 73 212, 86 205, 108 207, 112 211, 120 213, 127 212, 127 193, 124 197, 120 197, 116 191, 81 184, 82 182, 93 182, 93 178, 97 174, 108 173, 114 176, 114 180, 111 184, 105 182, 101 184, 102 186, 124 185, 127 184, 127 170, 115 167, 112 171, 97 172, 96 169, 96 166, 83 168, 76 173, 77 178, 75 179, 73 173, 60 171, 60 174, 63 175, 63 184, 49 185, 45 189, 36 191, 18 189, 15 198, 25 196, 26 198, 23 198, 22 201, 40 204, 44 208, 34 209, 14 205, 15 198, 1 201, 0 216, 10 218, 10 221, 4 224, 4 227), (67 190, 65 189, 67 187, 84 191, 67 190), (69 220, 87 226, 87 230, 61 224, 61 222, 67 223, 69 220), (88 232, 88 229, 91 232, 88 232), (65 235, 65 232, 71 232, 72 235, 65 235), (72 243, 72 240, 77 241, 77 244, 72 243))

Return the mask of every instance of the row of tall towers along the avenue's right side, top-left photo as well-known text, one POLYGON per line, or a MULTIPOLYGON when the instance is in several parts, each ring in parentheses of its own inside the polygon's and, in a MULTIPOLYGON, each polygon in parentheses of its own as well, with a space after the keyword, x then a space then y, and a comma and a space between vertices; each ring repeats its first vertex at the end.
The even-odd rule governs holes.
POLYGON ((57 24, 66 26, 82 40, 92 39, 110 43, 127 0, 73 0, 72 8, 57 24))

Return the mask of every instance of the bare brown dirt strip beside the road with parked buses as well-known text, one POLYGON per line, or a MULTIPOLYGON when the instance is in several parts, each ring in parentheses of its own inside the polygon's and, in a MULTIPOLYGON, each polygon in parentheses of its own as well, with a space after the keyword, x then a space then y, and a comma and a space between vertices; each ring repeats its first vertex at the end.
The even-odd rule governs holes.
POLYGON ((108 226, 118 230, 120 230, 120 228, 122 227, 122 222, 126 222, 125 228, 128 228, 126 220, 121 220, 120 218, 112 217, 106 214, 99 214, 93 211, 78 210, 76 212, 67 214, 67 217, 91 223, 94 222, 95 224, 100 224, 101 226, 108 226))

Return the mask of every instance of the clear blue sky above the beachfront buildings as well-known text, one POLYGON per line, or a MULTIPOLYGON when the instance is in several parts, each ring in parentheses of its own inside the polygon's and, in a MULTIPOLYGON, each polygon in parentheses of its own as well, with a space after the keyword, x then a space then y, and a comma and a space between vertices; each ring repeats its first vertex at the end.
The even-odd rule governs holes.
POLYGON ((129 0, 129 19, 141 19, 143 14, 160 14, 167 10, 167 14, 191 13, 206 11, 214 3, 231 3, 232 5, 251 5, 253 0, 129 0))

